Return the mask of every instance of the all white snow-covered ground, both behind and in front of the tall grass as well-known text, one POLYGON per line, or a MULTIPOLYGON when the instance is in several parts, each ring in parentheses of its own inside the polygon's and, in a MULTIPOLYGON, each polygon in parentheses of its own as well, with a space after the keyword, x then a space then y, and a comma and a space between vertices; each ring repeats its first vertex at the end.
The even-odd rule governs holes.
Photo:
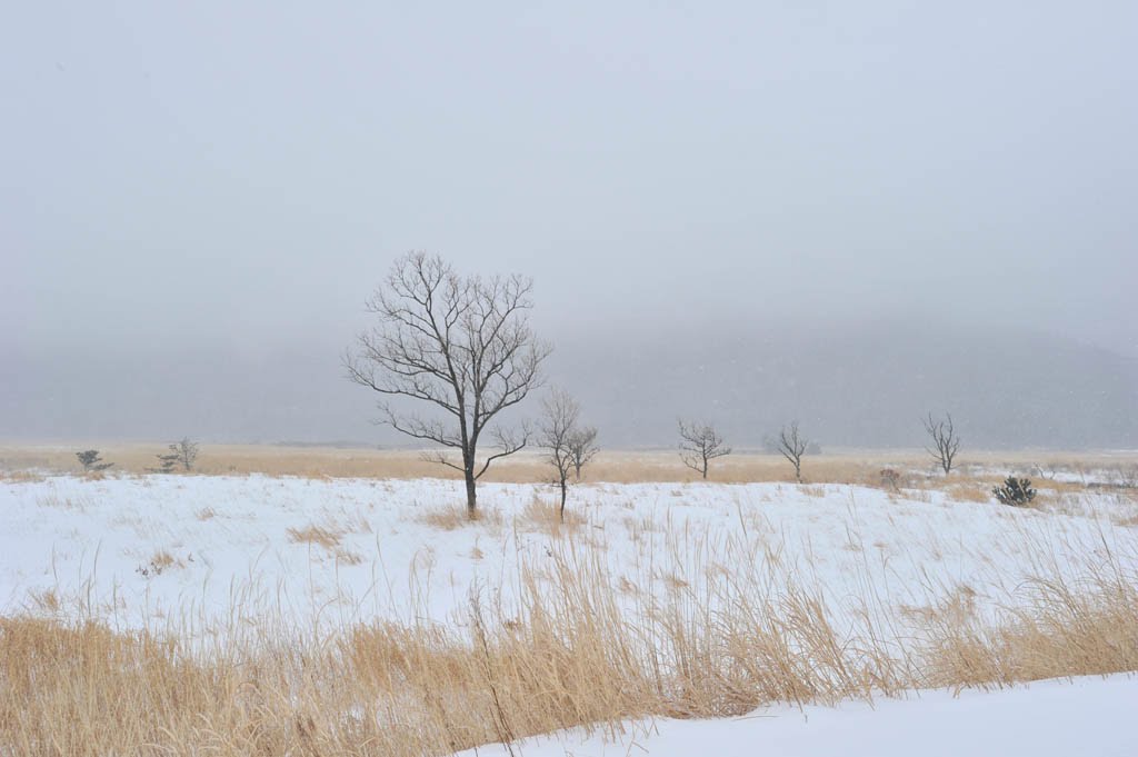
MULTIPOLYGON (((805 582, 849 626, 868 594, 898 618, 945 596, 982 614, 1029 601, 1031 576, 1078 585, 1107 560, 1138 569, 1138 505, 1118 493, 1069 494, 1056 510, 846 485, 596 484, 572 488, 579 523, 564 532, 541 517, 553 497, 547 486, 487 484, 484 517, 468 523, 461 484, 437 479, 0 482, 0 614, 82 608, 131 626, 225 623, 234 611, 332 627, 462 624, 472 586, 509 604, 519 566, 552 571, 567 544, 597 556, 622 594, 662 595, 728 574, 758 576, 753 585, 805 582)), ((516 754, 1138 755, 1136 713, 1138 680, 1113 676, 921 692, 873 708, 658 719, 615 740, 529 740, 516 754)))

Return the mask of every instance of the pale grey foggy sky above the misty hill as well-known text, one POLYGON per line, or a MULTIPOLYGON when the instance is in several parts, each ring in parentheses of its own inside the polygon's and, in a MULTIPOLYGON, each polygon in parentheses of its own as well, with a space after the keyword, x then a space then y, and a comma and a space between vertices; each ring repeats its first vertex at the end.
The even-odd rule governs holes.
POLYGON ((338 355, 413 248, 534 277, 574 345, 887 319, 1138 359, 1138 6, 617 5, 8 9, 0 437, 162 434, 122 387, 192 363, 165 426, 284 381, 336 409, 297 436, 358 438, 338 355))

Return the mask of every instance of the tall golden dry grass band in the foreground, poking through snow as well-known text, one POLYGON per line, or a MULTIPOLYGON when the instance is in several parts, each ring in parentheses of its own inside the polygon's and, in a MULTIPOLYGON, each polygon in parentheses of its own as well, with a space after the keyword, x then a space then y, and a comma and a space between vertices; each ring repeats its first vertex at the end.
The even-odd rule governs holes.
POLYGON ((652 715, 1138 669, 1132 556, 1073 579, 1041 552, 1025 602, 982 614, 946 587, 900 617, 869 584, 838 607, 808 566, 775 567, 777 545, 676 549, 688 574, 626 592, 600 549, 553 540, 521 561, 513 599, 473 584, 448 625, 3 618, 0 755, 445 755, 652 715))

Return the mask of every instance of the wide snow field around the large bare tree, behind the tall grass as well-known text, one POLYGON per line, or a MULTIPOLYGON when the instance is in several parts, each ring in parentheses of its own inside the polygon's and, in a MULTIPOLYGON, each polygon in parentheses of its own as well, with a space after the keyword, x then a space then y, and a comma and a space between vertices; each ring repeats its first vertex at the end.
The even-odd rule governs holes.
MULTIPOLYGON (((520 561, 552 559, 558 537, 526 515, 546 501, 547 486, 487 484, 484 520, 445 528, 430 517, 461 513, 463 494, 439 479, 0 482, 0 612, 48 598, 130 625, 265 608, 300 623, 448 622, 471 585, 509 599, 520 561), (339 541, 295 541, 308 527, 339 541)), ((1118 525, 1132 499, 1075 504, 1063 515, 844 485, 597 484, 575 487, 569 510, 586 521, 571 538, 640 591, 761 568, 809 581, 835 606, 868 583, 894 607, 956 591, 983 607, 1014 601, 1030 575, 1077 577, 1106 550, 1138 559, 1138 528, 1118 525)))

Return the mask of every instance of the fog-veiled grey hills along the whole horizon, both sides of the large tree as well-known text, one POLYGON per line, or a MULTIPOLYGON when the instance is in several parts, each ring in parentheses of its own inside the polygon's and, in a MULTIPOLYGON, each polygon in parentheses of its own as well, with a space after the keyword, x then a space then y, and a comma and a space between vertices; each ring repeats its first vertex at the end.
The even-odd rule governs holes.
MULTIPOLYGON (((555 343, 551 381, 580 398, 609 447, 671 446, 677 415, 716 421, 736 447, 792 419, 824 447, 917 446, 920 419, 946 410, 971 447, 1138 447, 1138 362, 1054 336, 894 322, 615 327, 555 343)), ((0 438, 406 445, 370 422, 376 397, 343 378, 343 346, 9 353, 0 438)))

